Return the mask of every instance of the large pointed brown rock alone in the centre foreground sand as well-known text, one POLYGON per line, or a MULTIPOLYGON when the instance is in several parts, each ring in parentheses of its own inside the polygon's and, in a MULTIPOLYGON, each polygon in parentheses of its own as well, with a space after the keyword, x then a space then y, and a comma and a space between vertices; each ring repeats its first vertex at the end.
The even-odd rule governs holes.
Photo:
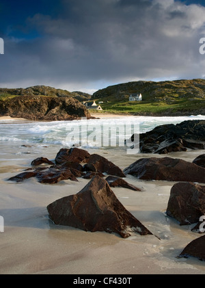
POLYGON ((72 226, 84 231, 118 233, 126 238, 131 232, 152 233, 137 220, 100 176, 94 178, 77 194, 60 198, 47 206, 55 224, 72 226))

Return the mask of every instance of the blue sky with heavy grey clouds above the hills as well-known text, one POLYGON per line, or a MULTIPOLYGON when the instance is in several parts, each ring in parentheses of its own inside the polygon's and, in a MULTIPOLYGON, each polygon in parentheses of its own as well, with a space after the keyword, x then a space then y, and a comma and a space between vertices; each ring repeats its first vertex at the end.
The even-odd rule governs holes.
POLYGON ((0 38, 1 88, 205 79, 205 0, 0 0, 0 38))

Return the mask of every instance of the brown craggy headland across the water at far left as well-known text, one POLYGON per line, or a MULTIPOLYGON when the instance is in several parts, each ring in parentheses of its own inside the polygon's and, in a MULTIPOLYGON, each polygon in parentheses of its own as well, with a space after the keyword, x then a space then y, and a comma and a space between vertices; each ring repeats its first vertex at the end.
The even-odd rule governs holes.
POLYGON ((0 116, 52 121, 92 118, 85 105, 76 99, 50 96, 16 96, 0 101, 0 116))

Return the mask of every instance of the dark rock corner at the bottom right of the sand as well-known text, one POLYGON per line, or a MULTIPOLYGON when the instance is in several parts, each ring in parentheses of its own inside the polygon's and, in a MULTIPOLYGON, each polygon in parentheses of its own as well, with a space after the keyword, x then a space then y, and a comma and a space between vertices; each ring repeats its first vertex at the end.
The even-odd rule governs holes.
POLYGON ((205 235, 191 241, 184 250, 182 250, 178 257, 195 257, 199 260, 205 261, 205 235))

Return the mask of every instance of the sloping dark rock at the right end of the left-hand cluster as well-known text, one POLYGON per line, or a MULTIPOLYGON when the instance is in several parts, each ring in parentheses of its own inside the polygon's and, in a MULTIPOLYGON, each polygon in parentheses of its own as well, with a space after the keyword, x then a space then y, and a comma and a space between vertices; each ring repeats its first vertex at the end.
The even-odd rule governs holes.
POLYGON ((98 172, 107 173, 113 176, 125 177, 124 172, 122 172, 118 166, 98 154, 90 155, 87 161, 87 166, 91 166, 91 164, 92 167, 94 166, 98 172))

